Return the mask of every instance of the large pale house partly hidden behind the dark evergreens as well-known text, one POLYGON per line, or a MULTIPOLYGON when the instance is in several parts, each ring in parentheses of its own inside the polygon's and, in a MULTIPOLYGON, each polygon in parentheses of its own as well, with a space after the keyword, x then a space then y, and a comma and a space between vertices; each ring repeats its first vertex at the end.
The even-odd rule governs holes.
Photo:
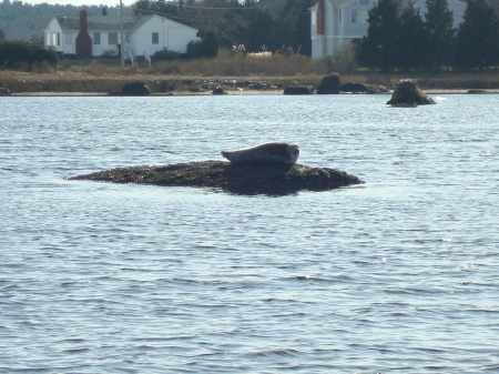
MULTIPOLYGON (((408 0, 403 0, 405 3, 408 0)), ((460 0, 447 0, 454 14, 454 27, 462 22, 467 4, 460 0)), ((421 17, 426 0, 414 1, 421 17)), ((368 11, 377 0, 318 0, 310 11, 312 58, 332 54, 339 46, 359 41, 367 34, 368 11)))

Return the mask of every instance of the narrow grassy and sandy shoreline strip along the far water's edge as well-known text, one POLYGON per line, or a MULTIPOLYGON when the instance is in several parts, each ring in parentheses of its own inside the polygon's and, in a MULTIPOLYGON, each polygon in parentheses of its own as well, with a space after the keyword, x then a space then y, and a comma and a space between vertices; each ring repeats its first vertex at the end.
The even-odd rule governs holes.
MULTIPOLYGON (((326 74, 327 75, 327 74, 326 74)), ((221 88, 224 94, 283 94, 284 89, 303 87, 316 90, 325 74, 307 73, 295 75, 187 75, 187 74, 146 74, 144 72, 89 73, 57 71, 33 73, 0 71, 0 82, 17 97, 105 97, 109 92, 121 90, 130 82, 144 82, 152 95, 207 95, 221 88)), ((499 75, 478 73, 339 73, 342 83, 365 84, 383 88, 390 93, 400 81, 411 80, 428 94, 499 93, 499 75)), ((361 94, 361 93, 359 93, 361 94)), ((381 94, 381 93, 371 93, 381 94)))

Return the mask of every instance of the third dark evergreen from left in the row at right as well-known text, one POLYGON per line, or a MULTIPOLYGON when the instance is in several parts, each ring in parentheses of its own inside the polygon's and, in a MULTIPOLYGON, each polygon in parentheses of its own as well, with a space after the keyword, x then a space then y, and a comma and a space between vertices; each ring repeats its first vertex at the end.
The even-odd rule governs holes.
POLYGON ((426 0, 425 29, 428 37, 428 64, 440 69, 450 63, 456 29, 447 0, 426 0))

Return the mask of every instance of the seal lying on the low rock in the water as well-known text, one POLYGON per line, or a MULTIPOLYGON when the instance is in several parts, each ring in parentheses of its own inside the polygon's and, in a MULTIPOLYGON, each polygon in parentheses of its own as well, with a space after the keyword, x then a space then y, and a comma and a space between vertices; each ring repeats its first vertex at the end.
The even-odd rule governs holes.
POLYGON ((268 142, 233 152, 222 151, 222 155, 237 164, 285 163, 292 165, 298 159, 299 146, 284 142, 268 142))

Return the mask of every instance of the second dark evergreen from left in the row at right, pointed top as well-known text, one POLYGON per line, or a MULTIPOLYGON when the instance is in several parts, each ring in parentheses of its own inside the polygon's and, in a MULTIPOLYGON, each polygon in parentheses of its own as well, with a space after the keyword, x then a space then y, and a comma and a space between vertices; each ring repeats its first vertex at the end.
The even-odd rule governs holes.
POLYGON ((425 23, 413 2, 401 10, 398 23, 397 67, 418 69, 427 64, 428 38, 425 23))

